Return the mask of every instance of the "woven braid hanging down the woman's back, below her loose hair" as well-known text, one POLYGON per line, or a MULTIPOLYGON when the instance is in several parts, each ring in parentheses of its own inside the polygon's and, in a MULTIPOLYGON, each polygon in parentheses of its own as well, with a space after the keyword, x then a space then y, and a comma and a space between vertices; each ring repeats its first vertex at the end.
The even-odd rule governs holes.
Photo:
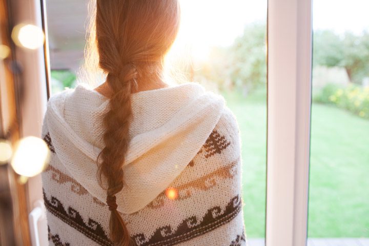
POLYGON ((118 213, 115 194, 123 188, 122 165, 128 149, 129 121, 132 116, 131 83, 136 78, 136 69, 132 65, 123 66, 119 73, 109 73, 107 83, 115 92, 110 98, 110 110, 106 113, 103 123, 106 128, 104 141, 106 147, 101 152, 103 163, 100 174, 109 177, 107 203, 111 210, 109 227, 110 237, 115 245, 130 245, 128 229, 118 213), (119 146, 119 148, 116 148, 119 146))

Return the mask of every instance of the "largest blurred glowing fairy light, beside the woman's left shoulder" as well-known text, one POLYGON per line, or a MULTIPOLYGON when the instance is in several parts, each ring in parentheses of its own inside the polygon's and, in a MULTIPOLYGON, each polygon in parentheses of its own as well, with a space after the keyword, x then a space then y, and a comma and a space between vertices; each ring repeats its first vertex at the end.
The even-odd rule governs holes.
POLYGON ((25 137, 17 144, 11 166, 17 174, 33 177, 45 169, 49 156, 50 150, 43 139, 25 137))

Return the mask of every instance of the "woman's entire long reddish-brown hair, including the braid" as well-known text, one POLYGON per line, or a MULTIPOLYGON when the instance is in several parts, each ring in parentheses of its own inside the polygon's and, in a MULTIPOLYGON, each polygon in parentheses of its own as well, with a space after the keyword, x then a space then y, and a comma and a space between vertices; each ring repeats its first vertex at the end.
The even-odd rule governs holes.
POLYGON ((130 233, 117 211, 115 194, 124 187, 122 166, 129 143, 131 93, 137 86, 160 79, 163 57, 179 28, 177 0, 95 0, 95 42, 98 66, 107 75, 111 91, 105 114, 105 148, 97 157, 99 182, 107 180, 111 211, 110 238, 115 245, 130 245, 130 233))

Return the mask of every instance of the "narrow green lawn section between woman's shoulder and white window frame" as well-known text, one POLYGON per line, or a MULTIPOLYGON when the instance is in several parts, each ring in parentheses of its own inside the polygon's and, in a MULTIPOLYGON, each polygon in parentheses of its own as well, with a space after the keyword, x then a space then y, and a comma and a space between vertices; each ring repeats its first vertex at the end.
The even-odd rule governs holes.
POLYGON ((243 216, 248 237, 264 237, 267 157, 267 104, 265 92, 248 97, 223 93, 237 117, 241 134, 243 216))

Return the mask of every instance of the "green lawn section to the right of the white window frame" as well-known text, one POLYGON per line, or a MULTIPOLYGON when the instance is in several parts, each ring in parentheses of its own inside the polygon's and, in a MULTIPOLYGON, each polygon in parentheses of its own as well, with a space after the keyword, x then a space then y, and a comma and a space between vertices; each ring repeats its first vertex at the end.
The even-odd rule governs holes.
POLYGON ((369 237, 369 120, 312 108, 309 236, 369 237))

